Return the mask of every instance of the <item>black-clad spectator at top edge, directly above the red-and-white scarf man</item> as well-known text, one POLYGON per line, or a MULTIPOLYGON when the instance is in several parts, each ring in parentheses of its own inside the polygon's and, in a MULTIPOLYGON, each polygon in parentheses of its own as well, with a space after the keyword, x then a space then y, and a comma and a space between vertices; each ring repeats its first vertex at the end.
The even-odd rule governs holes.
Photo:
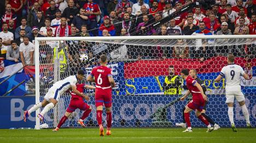
POLYGON ((68 7, 63 11, 62 17, 67 18, 68 25, 71 25, 74 17, 79 13, 79 9, 74 7, 74 0, 68 1, 68 7))

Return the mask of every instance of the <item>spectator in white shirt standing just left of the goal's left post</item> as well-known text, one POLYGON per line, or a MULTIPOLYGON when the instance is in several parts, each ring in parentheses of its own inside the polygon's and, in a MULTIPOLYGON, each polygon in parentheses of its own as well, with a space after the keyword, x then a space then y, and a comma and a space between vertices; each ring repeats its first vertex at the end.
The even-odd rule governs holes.
POLYGON ((34 63, 34 45, 28 36, 24 36, 23 43, 20 44, 20 58, 23 66, 34 63))

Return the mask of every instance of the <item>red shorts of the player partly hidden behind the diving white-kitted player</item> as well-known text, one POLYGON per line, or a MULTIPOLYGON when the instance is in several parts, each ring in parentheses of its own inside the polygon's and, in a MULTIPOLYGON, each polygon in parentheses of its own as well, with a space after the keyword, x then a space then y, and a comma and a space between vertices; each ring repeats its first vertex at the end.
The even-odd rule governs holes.
POLYGON ((70 101, 66 111, 68 113, 72 113, 77 108, 80 110, 87 110, 90 108, 90 106, 87 103, 85 103, 83 100, 78 100, 77 98, 74 98, 70 101))

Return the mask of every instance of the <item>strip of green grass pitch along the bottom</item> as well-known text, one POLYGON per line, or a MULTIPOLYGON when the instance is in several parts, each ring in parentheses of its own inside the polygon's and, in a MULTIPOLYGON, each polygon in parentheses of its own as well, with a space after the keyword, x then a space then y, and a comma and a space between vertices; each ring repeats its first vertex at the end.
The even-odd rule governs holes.
POLYGON ((51 130, 0 129, 0 142, 256 142, 256 128, 237 128, 237 133, 231 128, 211 133, 206 133, 206 128, 193 128, 193 133, 182 133, 183 128, 113 128, 110 136, 99 136, 98 128, 51 130))

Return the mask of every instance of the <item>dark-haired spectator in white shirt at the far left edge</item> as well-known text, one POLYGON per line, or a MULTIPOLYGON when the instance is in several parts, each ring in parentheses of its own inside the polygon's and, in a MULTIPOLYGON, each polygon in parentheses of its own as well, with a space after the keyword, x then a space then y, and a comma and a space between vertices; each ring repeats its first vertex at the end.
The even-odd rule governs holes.
POLYGON ((10 41, 14 39, 13 33, 8 32, 8 24, 6 22, 2 23, 2 32, 0 32, 0 38, 4 46, 10 47, 10 41))

